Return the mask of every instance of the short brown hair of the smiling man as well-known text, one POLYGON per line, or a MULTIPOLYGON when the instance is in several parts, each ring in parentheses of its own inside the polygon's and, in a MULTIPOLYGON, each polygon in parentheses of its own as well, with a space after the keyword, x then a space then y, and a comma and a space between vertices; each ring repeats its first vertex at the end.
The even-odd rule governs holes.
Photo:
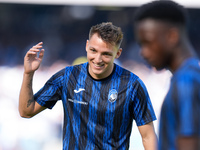
POLYGON ((120 27, 114 26, 111 22, 103 22, 92 26, 89 32, 89 39, 97 33, 105 42, 120 47, 123 40, 123 33, 120 27))

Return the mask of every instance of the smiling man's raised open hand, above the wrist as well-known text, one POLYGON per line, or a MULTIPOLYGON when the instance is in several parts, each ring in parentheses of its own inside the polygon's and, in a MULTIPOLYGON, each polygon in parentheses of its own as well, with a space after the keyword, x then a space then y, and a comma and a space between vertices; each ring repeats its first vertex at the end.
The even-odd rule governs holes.
POLYGON ((40 66, 44 56, 43 42, 33 46, 24 57, 24 73, 34 73, 40 66), (39 53, 39 56, 37 55, 39 53))

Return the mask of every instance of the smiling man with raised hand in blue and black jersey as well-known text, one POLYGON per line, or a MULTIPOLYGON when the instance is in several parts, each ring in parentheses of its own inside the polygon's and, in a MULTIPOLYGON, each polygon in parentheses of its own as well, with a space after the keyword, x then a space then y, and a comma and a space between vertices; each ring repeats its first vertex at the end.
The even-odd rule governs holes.
POLYGON ((32 79, 44 50, 42 42, 33 46, 24 58, 20 115, 33 117, 62 100, 63 150, 127 150, 133 120, 145 150, 155 150, 156 116, 146 87, 135 74, 114 64, 122 53, 122 39, 121 29, 112 23, 93 26, 86 42, 88 62, 60 70, 35 95, 32 79))

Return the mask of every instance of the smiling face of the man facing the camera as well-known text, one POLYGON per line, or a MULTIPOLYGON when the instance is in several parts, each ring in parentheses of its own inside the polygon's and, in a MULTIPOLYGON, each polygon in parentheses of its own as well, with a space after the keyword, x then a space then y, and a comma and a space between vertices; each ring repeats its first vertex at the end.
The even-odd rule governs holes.
POLYGON ((104 42, 94 34, 86 43, 89 73, 94 79, 103 79, 113 71, 113 61, 121 55, 121 49, 104 42))

